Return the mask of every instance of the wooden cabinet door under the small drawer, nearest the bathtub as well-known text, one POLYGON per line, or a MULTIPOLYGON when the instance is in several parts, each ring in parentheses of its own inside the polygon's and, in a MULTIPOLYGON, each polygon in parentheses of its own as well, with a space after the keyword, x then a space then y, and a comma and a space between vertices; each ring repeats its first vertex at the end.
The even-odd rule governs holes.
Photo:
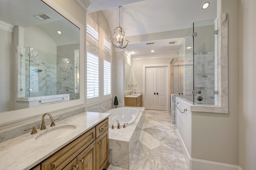
POLYGON ((108 130, 96 139, 96 170, 108 166, 108 130))

